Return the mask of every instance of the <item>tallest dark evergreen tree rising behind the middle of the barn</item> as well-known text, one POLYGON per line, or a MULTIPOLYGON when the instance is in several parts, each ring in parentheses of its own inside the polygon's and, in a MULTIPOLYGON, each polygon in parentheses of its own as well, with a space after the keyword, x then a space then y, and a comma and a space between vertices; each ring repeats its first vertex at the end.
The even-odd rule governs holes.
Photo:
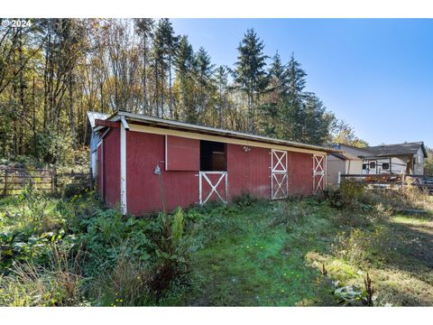
POLYGON ((254 131, 255 102, 266 88, 265 67, 268 56, 263 54, 264 44, 253 29, 248 29, 239 43, 235 63, 235 81, 247 97, 248 131, 254 131))

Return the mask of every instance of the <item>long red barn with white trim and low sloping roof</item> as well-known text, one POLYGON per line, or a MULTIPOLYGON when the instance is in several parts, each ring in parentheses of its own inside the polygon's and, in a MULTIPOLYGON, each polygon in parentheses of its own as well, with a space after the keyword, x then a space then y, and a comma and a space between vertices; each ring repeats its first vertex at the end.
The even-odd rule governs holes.
POLYGON ((227 203, 244 193, 273 200, 312 195, 325 189, 326 156, 337 152, 123 111, 88 116, 98 139, 99 195, 124 214, 227 203))

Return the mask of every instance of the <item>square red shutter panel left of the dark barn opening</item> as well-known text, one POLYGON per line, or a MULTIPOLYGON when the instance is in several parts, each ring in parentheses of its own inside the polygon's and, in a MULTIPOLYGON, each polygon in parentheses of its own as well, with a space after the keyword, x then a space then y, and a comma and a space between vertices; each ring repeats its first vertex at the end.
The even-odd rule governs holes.
POLYGON ((167 135, 167 171, 194 171, 200 168, 200 141, 167 135))

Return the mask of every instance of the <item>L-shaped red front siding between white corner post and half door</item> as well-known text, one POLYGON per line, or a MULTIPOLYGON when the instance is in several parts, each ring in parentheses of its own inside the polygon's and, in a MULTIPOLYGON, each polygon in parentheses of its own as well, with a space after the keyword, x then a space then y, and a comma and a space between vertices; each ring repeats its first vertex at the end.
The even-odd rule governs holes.
POLYGON ((126 193, 128 213, 162 210, 156 164, 161 168, 167 209, 187 208, 198 202, 198 172, 169 172, 163 168, 165 136, 126 132, 126 193))

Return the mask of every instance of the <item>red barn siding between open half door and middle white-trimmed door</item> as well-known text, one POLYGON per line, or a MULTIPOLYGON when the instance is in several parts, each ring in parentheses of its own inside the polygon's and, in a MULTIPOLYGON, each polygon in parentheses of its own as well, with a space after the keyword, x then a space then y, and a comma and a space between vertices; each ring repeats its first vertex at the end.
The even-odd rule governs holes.
POLYGON ((228 193, 231 199, 248 191, 257 198, 271 198, 271 149, 227 144, 228 193))

